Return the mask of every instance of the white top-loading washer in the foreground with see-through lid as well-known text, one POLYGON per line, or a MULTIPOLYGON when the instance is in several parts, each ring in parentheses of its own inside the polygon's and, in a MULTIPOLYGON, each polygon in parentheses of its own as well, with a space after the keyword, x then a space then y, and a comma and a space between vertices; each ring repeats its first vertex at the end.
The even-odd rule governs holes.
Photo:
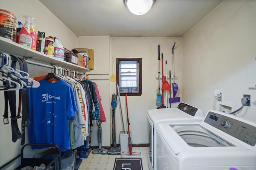
POLYGON ((156 136, 157 170, 256 170, 256 123, 234 115, 159 123, 156 136))

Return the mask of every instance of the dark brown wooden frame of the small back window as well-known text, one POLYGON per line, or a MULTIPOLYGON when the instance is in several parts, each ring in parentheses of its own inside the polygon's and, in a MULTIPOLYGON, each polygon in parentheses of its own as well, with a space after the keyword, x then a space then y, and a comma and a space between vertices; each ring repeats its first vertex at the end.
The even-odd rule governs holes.
POLYGON ((141 96, 142 94, 142 58, 116 58, 116 84, 120 84, 120 77, 119 77, 119 64, 120 61, 137 61, 138 62, 138 92, 120 92, 120 96, 141 96))

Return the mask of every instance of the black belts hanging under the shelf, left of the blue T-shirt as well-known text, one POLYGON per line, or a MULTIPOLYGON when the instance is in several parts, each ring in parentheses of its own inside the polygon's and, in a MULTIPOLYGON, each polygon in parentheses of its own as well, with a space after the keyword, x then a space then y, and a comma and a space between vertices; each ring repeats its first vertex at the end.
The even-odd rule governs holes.
MULTIPOLYGON (((20 65, 20 70, 28 72, 28 67, 24 59, 12 56, 12 68, 16 68, 16 62, 20 65)), ((21 73, 24 76, 24 73, 21 73)), ((16 115, 16 92, 15 91, 4 91, 5 108, 4 108, 4 124, 8 124, 8 102, 11 111, 11 126, 12 126, 12 141, 16 142, 17 139, 22 138, 21 145, 25 143, 25 127, 30 125, 29 118, 29 106, 28 106, 28 89, 25 88, 19 90, 19 107, 16 115), (20 110, 22 104, 22 133, 18 128, 17 119, 20 118, 20 110)))

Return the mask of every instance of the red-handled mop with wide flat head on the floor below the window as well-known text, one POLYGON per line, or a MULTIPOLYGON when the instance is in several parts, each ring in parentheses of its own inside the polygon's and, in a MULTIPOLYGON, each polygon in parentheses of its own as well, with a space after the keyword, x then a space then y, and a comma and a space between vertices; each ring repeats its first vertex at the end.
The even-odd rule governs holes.
POLYGON ((127 102, 127 94, 125 94, 125 101, 126 101, 126 113, 127 113, 127 123, 128 123, 128 147, 129 152, 121 152, 121 158, 140 158, 140 152, 132 152, 132 138, 130 137, 130 122, 129 122, 129 115, 128 115, 128 102, 127 102))

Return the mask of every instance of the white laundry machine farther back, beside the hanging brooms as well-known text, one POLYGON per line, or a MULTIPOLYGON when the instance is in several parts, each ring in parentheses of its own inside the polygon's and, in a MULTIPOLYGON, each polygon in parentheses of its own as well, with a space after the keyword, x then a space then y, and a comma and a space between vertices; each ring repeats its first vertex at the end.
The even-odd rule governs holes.
POLYGON ((148 157, 148 166, 155 169, 156 165, 156 126, 161 122, 194 122, 204 119, 204 113, 201 109, 189 104, 180 102, 176 108, 151 109, 147 114, 148 122, 151 125, 150 130, 150 150, 148 157))

